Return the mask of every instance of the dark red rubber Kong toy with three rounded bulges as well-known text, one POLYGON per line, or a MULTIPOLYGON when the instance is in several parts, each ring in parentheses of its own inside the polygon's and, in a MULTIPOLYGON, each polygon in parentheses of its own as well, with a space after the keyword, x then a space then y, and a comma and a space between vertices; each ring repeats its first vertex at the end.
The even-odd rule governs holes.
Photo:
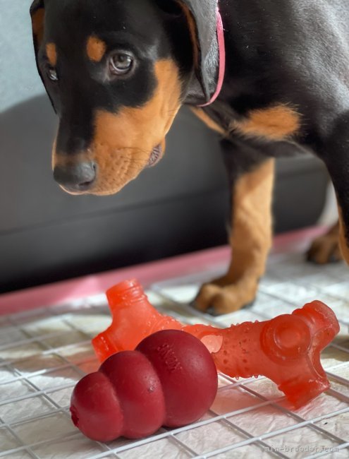
POLYGON ((137 439, 161 425, 195 422, 212 405, 217 386, 216 366, 202 342, 162 330, 82 378, 71 397, 71 418, 92 440, 137 439))

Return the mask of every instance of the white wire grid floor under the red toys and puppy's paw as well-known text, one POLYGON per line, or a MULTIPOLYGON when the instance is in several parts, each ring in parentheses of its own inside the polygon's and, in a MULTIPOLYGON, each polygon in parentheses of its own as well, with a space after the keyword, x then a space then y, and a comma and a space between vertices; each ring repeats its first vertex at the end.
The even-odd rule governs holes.
POLYGON ((188 307, 202 281, 225 266, 202 269, 152 285, 150 301, 183 322, 224 327, 320 299, 341 323, 322 354, 331 389, 292 410, 267 378, 220 375, 214 405, 199 422, 136 441, 90 441, 71 423, 69 405, 75 383, 99 366, 90 339, 110 323, 101 294, 0 316, 0 458, 349 458, 348 268, 313 266, 302 254, 271 256, 255 304, 220 317, 188 307))

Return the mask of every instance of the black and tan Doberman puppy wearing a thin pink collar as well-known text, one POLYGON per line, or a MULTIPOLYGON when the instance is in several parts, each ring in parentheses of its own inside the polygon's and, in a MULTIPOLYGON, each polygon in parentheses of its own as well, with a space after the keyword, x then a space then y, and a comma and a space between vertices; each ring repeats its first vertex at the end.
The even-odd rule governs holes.
MULTIPOLYGON (((37 66, 56 113, 54 178, 68 193, 116 193, 164 153, 183 104, 221 133, 231 181, 232 262, 195 306, 255 298, 271 246, 274 158, 311 151, 338 198, 349 261, 348 0, 35 0, 37 66)), ((213 309, 211 309, 213 308, 213 309)))

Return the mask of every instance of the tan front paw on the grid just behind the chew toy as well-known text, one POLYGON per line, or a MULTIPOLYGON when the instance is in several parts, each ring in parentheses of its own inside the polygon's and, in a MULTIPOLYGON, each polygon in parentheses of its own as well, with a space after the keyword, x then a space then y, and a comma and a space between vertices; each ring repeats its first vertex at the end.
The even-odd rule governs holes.
POLYGON ((202 285, 193 302, 195 309, 213 315, 228 314, 238 311, 253 302, 257 292, 257 283, 247 286, 246 282, 219 285, 221 282, 210 282, 202 285))

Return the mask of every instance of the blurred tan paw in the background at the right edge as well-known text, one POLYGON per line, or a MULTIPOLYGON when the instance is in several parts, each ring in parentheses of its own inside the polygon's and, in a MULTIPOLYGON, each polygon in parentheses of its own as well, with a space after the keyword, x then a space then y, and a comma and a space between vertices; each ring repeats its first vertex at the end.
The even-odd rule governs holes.
POLYGON ((314 239, 306 256, 308 261, 318 265, 336 263, 343 260, 338 244, 338 234, 324 234, 314 239))

